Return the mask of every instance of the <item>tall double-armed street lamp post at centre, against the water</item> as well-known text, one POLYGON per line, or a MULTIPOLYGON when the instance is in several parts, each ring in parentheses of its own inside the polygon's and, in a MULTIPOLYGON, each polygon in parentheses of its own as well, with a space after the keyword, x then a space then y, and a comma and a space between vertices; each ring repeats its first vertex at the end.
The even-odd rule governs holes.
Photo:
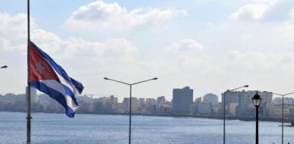
POLYGON ((107 77, 104 77, 104 80, 115 81, 115 82, 118 82, 118 83, 129 85, 129 144, 131 144, 131 86, 136 85, 138 83, 144 83, 146 81, 152 81, 152 80, 157 80, 157 79, 158 78, 153 78, 153 79, 147 79, 145 81, 139 81, 137 83, 125 83, 125 82, 122 82, 122 81, 116 81, 114 79, 109 79, 107 77))

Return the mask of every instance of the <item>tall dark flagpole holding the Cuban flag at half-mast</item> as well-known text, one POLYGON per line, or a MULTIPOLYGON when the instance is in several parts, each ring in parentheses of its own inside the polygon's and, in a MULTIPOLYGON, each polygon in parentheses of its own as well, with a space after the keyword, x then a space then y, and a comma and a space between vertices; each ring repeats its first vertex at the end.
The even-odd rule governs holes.
POLYGON ((27 48, 27 62, 28 62, 28 94, 27 94, 27 116, 26 116, 26 144, 30 143, 30 0, 28 0, 28 48, 27 48))

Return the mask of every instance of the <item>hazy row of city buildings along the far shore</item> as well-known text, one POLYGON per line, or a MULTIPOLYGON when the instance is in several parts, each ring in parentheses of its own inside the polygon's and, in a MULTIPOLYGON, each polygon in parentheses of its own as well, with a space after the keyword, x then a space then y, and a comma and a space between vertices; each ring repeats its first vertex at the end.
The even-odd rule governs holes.
MULTIPOLYGON (((38 94, 34 88, 31 90, 33 112, 63 113, 64 109, 54 99, 46 94, 38 94)), ((226 115, 232 119, 248 121, 254 117, 252 96, 258 92, 263 102, 260 107, 260 116, 265 121, 279 121, 282 112, 282 99, 273 98, 273 94, 258 90, 242 90, 227 92, 226 115)), ((145 97, 132 97, 132 114, 154 116, 192 116, 211 119, 222 119, 223 102, 217 102, 215 94, 205 94, 201 98, 193 99, 193 90, 189 87, 174 89, 172 101, 165 96, 157 99, 145 97)), ((100 96, 93 98, 91 95, 77 96, 80 108, 77 114, 129 114, 129 97, 122 102, 118 97, 100 96)), ((294 118, 294 99, 285 97, 284 108, 286 121, 294 118)), ((0 95, 0 111, 26 112, 26 94, 0 95)))

